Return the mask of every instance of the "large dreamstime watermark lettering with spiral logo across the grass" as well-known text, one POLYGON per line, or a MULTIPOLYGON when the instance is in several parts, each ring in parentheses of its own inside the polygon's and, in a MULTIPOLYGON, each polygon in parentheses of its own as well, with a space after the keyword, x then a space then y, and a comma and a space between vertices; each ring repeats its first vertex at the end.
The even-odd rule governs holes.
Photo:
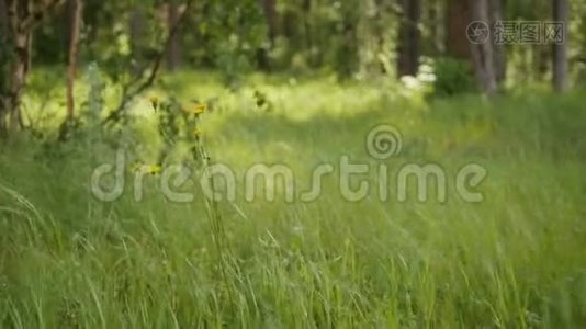
MULTIPOLYGON (((401 155, 402 149, 401 132, 388 124, 379 125, 372 128, 365 138, 365 150, 371 157, 368 161, 370 163, 354 163, 346 155, 336 163, 320 163, 311 172, 308 189, 300 189, 295 172, 282 163, 256 163, 247 168, 240 177, 230 167, 222 163, 211 164, 199 173, 182 164, 171 164, 161 169, 157 180, 159 191, 165 197, 177 203, 190 203, 195 200, 193 192, 184 191, 190 181, 201 186, 204 197, 230 202, 237 201, 238 195, 241 195, 246 202, 260 198, 274 202, 281 197, 289 203, 296 201, 309 203, 326 193, 324 189, 326 182, 334 182, 339 194, 348 202, 373 197, 388 202, 392 198, 391 192, 394 191, 397 202, 406 202, 409 195, 416 194, 419 202, 427 202, 435 195, 438 202, 443 203, 447 201, 449 186, 453 186, 453 191, 464 202, 478 203, 484 200, 483 193, 477 190, 487 171, 477 163, 461 166, 453 177, 438 163, 404 163, 397 167, 398 170, 393 179, 390 160, 401 155), (373 174, 375 179, 372 179, 373 174), (238 185, 244 188, 244 193, 237 193, 238 185)), ((126 150, 120 149, 115 163, 103 163, 93 170, 90 188, 95 198, 113 202, 124 194, 126 164, 126 150)), ((144 200, 147 175, 148 173, 140 170, 134 172, 133 190, 136 202, 144 200)), ((327 193, 335 192, 329 189, 327 193)))

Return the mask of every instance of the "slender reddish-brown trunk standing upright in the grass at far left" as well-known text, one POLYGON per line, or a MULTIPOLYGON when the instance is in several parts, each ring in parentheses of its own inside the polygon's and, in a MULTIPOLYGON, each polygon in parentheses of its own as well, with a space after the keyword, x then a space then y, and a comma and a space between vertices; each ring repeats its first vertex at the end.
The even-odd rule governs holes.
POLYGON ((71 25, 69 37, 69 60, 67 64, 67 121, 71 122, 75 114, 74 86, 76 80, 77 57, 79 52, 79 34, 81 29, 82 0, 70 0, 71 25))

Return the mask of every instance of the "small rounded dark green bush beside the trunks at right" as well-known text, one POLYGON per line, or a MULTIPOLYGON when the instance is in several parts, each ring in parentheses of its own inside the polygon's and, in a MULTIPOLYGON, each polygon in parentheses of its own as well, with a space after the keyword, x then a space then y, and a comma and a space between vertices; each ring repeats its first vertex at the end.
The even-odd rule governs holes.
POLYGON ((436 75, 433 90, 439 97, 477 91, 474 71, 467 61, 440 58, 435 63, 433 73, 436 75))

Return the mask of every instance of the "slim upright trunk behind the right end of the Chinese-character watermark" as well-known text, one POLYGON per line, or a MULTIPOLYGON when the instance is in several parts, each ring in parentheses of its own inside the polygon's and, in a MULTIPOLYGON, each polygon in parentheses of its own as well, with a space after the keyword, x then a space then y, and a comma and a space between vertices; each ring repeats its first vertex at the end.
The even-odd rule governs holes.
POLYGON ((570 22, 568 0, 553 0, 553 20, 564 24, 563 42, 553 45, 553 89, 563 92, 567 88, 567 24, 570 22))

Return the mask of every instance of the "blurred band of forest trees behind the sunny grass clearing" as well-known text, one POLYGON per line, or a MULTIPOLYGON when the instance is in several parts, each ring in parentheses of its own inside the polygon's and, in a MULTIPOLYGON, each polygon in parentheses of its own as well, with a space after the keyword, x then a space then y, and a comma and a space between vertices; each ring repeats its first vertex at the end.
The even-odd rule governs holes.
MULTIPOLYGON (((193 1, 192 7, 190 2, 0 0, 0 132, 23 125, 20 105, 33 56, 47 65, 68 61, 64 113, 69 118, 74 116, 78 57, 82 63, 98 61, 131 98, 156 81, 159 68, 174 70, 180 65, 218 70, 226 81, 255 69, 294 75, 319 71, 352 79, 380 73, 417 76, 420 63, 439 72, 441 60, 448 58, 463 64, 449 68, 457 76, 458 68, 465 66, 465 83, 452 83, 457 92, 461 86, 472 86, 466 91, 474 91, 475 83, 469 79, 476 78, 476 84, 488 94, 504 84, 507 67, 510 80, 552 77, 556 91, 567 89, 572 78, 586 77, 586 66, 582 76, 571 70, 579 50, 568 48, 586 48, 586 42, 576 43, 586 39, 586 32, 578 30, 586 26, 579 22, 581 15, 586 16, 586 7, 568 0, 551 0, 546 5, 504 0, 234 0, 229 5, 204 0, 193 1), (35 32, 33 45, 34 27, 65 2, 70 5, 56 11, 54 19, 35 32), (81 2, 83 11, 78 7, 81 2), (188 12, 189 7, 192 10, 188 12), (499 21, 552 19, 565 23, 564 33, 575 31, 572 45, 505 48, 495 39, 474 44, 466 37, 472 21, 494 29, 499 21), (181 20, 189 32, 170 33, 179 30, 173 26, 181 20), (78 56, 81 21, 83 52, 78 56), (131 82, 136 83, 124 88, 131 82)), ((494 38, 495 31, 491 32, 494 38)))

